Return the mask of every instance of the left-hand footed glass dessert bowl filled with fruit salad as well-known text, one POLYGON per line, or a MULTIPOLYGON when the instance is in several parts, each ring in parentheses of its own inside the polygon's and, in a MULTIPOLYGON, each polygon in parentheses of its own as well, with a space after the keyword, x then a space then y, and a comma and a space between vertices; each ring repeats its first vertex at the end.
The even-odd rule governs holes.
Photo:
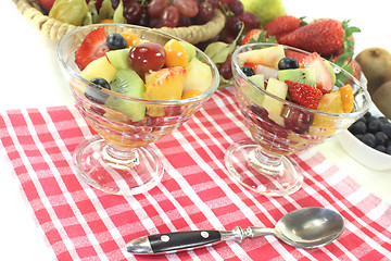
MULTIPOLYGON (((112 42, 116 45, 121 39, 112 42)), ((76 108, 88 125, 99 134, 83 141, 74 152, 77 174, 89 185, 109 194, 126 196, 144 192, 159 184, 164 170, 160 152, 151 144, 185 123, 218 87, 218 71, 214 63, 189 44, 180 41, 189 52, 188 61, 182 66, 174 63, 168 67, 166 63, 169 49, 162 50, 169 41, 177 45, 180 40, 150 28, 118 24, 79 27, 60 40, 58 57, 76 108), (124 37, 128 44, 133 44, 117 50, 121 52, 127 49, 126 57, 117 53, 109 55, 110 51, 115 50, 108 50, 109 41, 97 44, 99 37, 96 35, 101 34, 100 37, 106 40, 114 33, 117 37, 118 34, 129 35, 129 32, 137 40, 124 37), (87 37, 93 42, 93 48, 98 47, 94 52, 103 50, 104 53, 99 54, 103 59, 85 62, 90 53, 85 55, 85 50, 80 51, 79 47, 87 37), (147 46, 141 45, 146 42, 147 46), (151 48, 151 42, 159 44, 160 47, 151 48), (154 52, 147 61, 140 53, 149 49, 154 52), (135 70, 130 66, 131 62, 127 62, 131 51, 133 64, 141 64, 135 65, 135 70), (162 55, 166 60, 156 67, 156 60, 162 55), (190 69, 190 63, 195 63, 195 60, 197 64, 190 69), (90 65, 93 63, 103 63, 103 70, 90 65), (155 66, 152 70, 149 67, 151 64, 155 66), (114 69, 112 65, 115 65, 114 69), (192 83, 187 83, 186 80, 191 82, 187 73, 194 76, 200 73, 198 70, 206 70, 207 77, 204 80, 198 77, 197 82, 193 80, 197 77, 193 77, 192 83), (98 77, 102 74, 102 78, 106 79, 105 84, 110 83, 109 86, 104 87, 101 78, 97 80, 97 76, 90 75, 97 73, 98 77), (185 95, 185 89, 192 95, 185 95)), ((90 51, 93 48, 86 49, 90 51)), ((181 49, 181 52, 186 51, 181 49)))

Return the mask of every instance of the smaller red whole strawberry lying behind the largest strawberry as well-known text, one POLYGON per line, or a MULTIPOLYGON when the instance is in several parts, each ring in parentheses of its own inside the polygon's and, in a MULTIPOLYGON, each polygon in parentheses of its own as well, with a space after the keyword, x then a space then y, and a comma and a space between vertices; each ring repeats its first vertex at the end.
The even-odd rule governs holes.
POLYGON ((293 15, 282 15, 273 20, 264 26, 269 36, 280 36, 298 29, 303 21, 293 15))

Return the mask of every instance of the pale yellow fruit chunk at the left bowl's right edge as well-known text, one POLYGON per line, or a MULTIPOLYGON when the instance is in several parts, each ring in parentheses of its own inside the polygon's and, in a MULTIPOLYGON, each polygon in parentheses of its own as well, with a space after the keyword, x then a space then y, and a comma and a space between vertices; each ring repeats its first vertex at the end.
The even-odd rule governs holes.
POLYGON ((198 89, 205 92, 212 84, 212 71, 211 67, 193 58, 191 62, 186 66, 186 78, 184 92, 198 89))

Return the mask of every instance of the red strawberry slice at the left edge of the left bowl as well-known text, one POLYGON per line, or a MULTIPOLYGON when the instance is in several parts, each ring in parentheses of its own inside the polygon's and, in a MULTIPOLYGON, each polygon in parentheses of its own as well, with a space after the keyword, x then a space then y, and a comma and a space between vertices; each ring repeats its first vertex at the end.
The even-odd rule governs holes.
POLYGON ((93 60, 103 57, 110 51, 106 44, 104 26, 88 33, 81 45, 75 51, 75 63, 84 70, 93 60))

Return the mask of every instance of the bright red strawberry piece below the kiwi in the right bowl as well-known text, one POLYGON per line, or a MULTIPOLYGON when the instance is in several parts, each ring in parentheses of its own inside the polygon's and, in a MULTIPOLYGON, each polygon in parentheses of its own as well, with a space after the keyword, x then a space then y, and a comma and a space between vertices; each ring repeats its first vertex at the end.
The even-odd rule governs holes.
POLYGON ((316 110, 323 96, 318 88, 289 79, 285 83, 288 85, 288 94, 293 102, 316 110))

